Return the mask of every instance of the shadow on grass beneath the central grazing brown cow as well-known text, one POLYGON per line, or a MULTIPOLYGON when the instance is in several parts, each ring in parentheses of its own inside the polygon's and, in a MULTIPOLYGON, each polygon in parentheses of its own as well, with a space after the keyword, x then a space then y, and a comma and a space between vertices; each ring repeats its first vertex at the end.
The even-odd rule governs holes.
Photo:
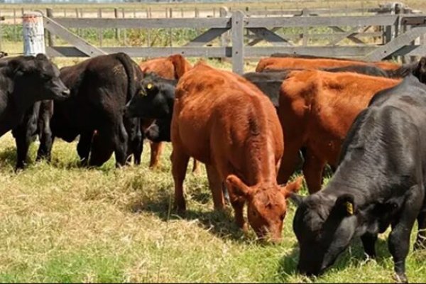
MULTIPOLYGON (((211 196, 205 192, 195 192, 191 195, 193 200, 198 202, 208 202, 211 196)), ((152 212, 156 214, 164 222, 168 220, 185 219, 187 221, 197 220, 197 224, 206 229, 211 234, 219 236, 222 239, 241 240, 244 232, 236 226, 234 216, 230 205, 226 205, 223 211, 209 210, 207 212, 201 210, 187 209, 185 213, 178 214, 173 209, 173 196, 161 195, 155 197, 155 200, 141 202, 141 200, 133 200, 129 204, 131 212, 152 212)))

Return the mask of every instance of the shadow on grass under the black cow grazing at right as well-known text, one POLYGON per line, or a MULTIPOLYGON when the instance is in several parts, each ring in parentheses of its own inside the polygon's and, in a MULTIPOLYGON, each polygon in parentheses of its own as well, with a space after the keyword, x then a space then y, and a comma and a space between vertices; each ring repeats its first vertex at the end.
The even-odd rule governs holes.
MULTIPOLYGON (((315 249, 315 248, 312 248, 315 249)), ((388 251, 388 244, 386 240, 378 239, 376 242, 376 263, 378 266, 386 267, 386 258, 391 254, 388 251)), ((332 271, 344 271, 349 266, 359 266, 366 261, 366 255, 360 239, 352 241, 351 246, 342 253, 333 266, 329 268, 332 271)), ((280 281, 290 281, 290 276, 297 274, 297 263, 299 262, 299 247, 296 243, 290 253, 287 253, 280 259, 278 266, 278 275, 280 281)), ((327 271, 329 271, 327 270, 327 271)), ((326 273, 327 273, 326 271, 326 273)), ((321 276, 320 276, 321 277, 321 276)), ((312 278, 313 279, 313 278, 312 278)), ((312 280, 311 279, 311 280, 312 280)))

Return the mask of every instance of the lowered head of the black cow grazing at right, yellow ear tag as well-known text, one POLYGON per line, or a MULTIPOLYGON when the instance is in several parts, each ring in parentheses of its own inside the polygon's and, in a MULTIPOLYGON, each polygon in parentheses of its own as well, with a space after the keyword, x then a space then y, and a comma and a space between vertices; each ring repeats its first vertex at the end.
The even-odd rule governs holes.
POLYGON ((320 275, 332 266, 354 237, 357 219, 354 196, 344 194, 336 200, 317 192, 309 197, 292 196, 299 204, 293 231, 300 247, 297 269, 307 275, 320 275))

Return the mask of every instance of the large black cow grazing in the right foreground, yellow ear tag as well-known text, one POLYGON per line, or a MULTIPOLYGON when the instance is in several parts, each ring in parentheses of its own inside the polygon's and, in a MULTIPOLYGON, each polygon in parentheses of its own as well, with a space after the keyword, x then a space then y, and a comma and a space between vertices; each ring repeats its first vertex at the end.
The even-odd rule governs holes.
POLYGON ((405 282, 405 258, 415 219, 415 248, 426 245, 426 87, 413 76, 371 99, 342 146, 327 187, 302 199, 293 220, 298 269, 318 275, 356 236, 374 258, 377 235, 392 226, 388 246, 396 279, 405 282))

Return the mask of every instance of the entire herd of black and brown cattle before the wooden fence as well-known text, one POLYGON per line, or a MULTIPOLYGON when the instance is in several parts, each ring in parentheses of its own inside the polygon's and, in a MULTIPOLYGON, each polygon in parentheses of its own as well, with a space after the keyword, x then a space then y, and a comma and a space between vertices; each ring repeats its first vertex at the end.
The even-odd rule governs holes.
POLYGON ((190 157, 207 169, 215 209, 225 196, 236 224, 279 241, 286 200, 297 204, 293 230, 298 270, 318 275, 356 236, 376 256, 379 233, 396 280, 406 282, 410 232, 426 246, 426 58, 392 62, 276 54, 242 76, 181 55, 137 65, 116 53, 58 70, 45 55, 0 60, 0 135, 16 138, 16 168, 40 138, 37 159, 50 159, 56 137, 80 139, 82 165, 141 162, 151 140, 151 166, 162 143, 173 145, 175 207, 185 211, 190 157), (324 166, 334 174, 323 190, 324 166), (302 165, 310 195, 288 182, 302 165))

